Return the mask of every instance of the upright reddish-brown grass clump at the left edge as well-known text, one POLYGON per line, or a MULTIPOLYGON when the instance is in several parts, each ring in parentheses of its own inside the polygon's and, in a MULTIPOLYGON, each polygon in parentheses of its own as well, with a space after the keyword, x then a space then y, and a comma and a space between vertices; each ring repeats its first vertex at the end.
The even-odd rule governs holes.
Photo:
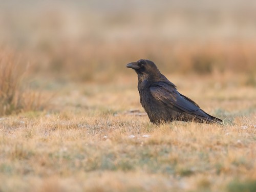
POLYGON ((12 52, 5 51, 0 55, 0 115, 41 110, 47 103, 40 92, 25 85, 28 65, 14 56, 12 52))

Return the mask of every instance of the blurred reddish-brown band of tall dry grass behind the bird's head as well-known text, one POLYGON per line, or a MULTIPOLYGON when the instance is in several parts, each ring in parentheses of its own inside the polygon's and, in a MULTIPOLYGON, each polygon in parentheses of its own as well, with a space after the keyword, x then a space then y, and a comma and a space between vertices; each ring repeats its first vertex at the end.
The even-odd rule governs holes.
POLYGON ((73 81, 110 82, 115 80, 117 74, 127 74, 123 67, 126 63, 146 58, 153 60, 166 73, 247 73, 241 83, 256 85, 255 42, 207 41, 196 44, 152 39, 136 46, 134 42, 124 40, 118 44, 101 42, 100 46, 94 41, 87 44, 78 42, 77 48, 69 47, 68 42, 61 42, 50 47, 45 50, 38 46, 33 55, 29 55, 33 73, 73 81))

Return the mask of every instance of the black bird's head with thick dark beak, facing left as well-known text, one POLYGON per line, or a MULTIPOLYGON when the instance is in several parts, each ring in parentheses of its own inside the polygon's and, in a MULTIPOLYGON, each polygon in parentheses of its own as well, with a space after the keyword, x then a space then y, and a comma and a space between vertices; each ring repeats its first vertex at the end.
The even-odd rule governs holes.
POLYGON ((148 81, 157 81, 161 77, 160 71, 154 62, 146 59, 140 59, 137 62, 131 62, 126 65, 126 68, 131 68, 138 74, 139 81, 147 79, 148 81))

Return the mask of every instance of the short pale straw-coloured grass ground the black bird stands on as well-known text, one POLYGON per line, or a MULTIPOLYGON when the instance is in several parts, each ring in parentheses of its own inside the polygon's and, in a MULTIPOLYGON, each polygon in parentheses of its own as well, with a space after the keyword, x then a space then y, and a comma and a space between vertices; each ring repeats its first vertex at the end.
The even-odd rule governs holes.
POLYGON ((183 79, 181 92, 224 124, 156 126, 129 112, 143 112, 136 75, 129 79, 97 86, 67 83, 51 110, 2 117, 0 190, 254 190, 253 87, 207 88, 203 94, 213 78, 195 88, 183 79))

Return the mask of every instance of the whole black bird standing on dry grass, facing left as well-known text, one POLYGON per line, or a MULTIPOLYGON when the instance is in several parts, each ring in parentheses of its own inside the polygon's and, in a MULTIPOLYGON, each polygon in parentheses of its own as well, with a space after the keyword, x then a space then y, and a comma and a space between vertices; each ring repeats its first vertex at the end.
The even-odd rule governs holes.
POLYGON ((140 59, 126 65, 138 74, 140 103, 150 121, 156 124, 172 121, 221 123, 222 120, 205 113, 199 105, 180 94, 174 83, 160 73, 154 62, 140 59))

